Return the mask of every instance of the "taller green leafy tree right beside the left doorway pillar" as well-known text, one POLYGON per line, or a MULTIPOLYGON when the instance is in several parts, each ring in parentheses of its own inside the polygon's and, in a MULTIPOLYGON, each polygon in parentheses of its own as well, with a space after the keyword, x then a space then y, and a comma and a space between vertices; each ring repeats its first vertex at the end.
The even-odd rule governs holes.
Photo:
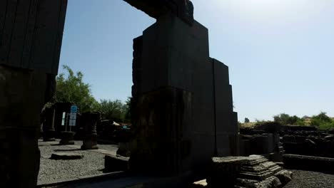
POLYGON ((63 66, 68 75, 64 73, 56 77, 56 101, 71 102, 78 105, 81 113, 96 110, 97 102, 91 95, 91 85, 83 83, 83 73, 74 74, 69 66, 63 66))

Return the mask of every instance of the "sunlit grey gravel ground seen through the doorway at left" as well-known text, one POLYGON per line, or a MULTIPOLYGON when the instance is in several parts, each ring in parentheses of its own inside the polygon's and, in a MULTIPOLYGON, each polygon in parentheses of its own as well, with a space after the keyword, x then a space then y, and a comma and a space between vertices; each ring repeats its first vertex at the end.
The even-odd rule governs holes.
MULTIPOLYGON (((76 145, 82 145, 82 141, 76 141, 76 145)), ((117 149, 115 145, 98 145, 98 147, 103 150, 117 149)), ((41 150, 41 165, 38 184, 103 174, 104 154, 79 150, 73 146, 55 145, 54 142, 42 142, 41 140, 39 141, 39 150, 41 150), (81 160, 51 160, 50 157, 53 152, 74 152, 83 155, 83 158, 81 160)))

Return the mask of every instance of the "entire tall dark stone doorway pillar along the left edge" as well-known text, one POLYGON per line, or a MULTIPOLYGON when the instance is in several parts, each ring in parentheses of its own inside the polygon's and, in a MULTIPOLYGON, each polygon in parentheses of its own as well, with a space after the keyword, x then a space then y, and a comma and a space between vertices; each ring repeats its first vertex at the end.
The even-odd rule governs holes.
POLYGON ((0 1, 0 187, 36 187, 40 113, 56 88, 66 6, 0 1))

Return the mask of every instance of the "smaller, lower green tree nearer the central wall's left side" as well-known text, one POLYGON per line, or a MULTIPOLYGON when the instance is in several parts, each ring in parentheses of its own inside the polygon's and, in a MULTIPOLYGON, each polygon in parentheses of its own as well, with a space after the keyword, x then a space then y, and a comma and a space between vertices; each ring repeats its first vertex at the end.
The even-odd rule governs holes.
POLYGON ((103 120, 114 120, 123 122, 126 115, 126 105, 121 100, 101 100, 98 103, 97 111, 101 113, 103 120))

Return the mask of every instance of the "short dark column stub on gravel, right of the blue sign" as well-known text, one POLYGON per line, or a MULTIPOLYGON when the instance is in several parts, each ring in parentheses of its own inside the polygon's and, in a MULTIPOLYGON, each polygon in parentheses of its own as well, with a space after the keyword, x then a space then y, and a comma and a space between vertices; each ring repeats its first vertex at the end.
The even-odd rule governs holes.
POLYGON ((93 150, 98 149, 97 139, 98 135, 96 133, 96 125, 101 121, 100 113, 83 113, 81 117, 81 122, 85 129, 86 134, 83 136, 83 143, 81 145, 81 150, 93 150))

